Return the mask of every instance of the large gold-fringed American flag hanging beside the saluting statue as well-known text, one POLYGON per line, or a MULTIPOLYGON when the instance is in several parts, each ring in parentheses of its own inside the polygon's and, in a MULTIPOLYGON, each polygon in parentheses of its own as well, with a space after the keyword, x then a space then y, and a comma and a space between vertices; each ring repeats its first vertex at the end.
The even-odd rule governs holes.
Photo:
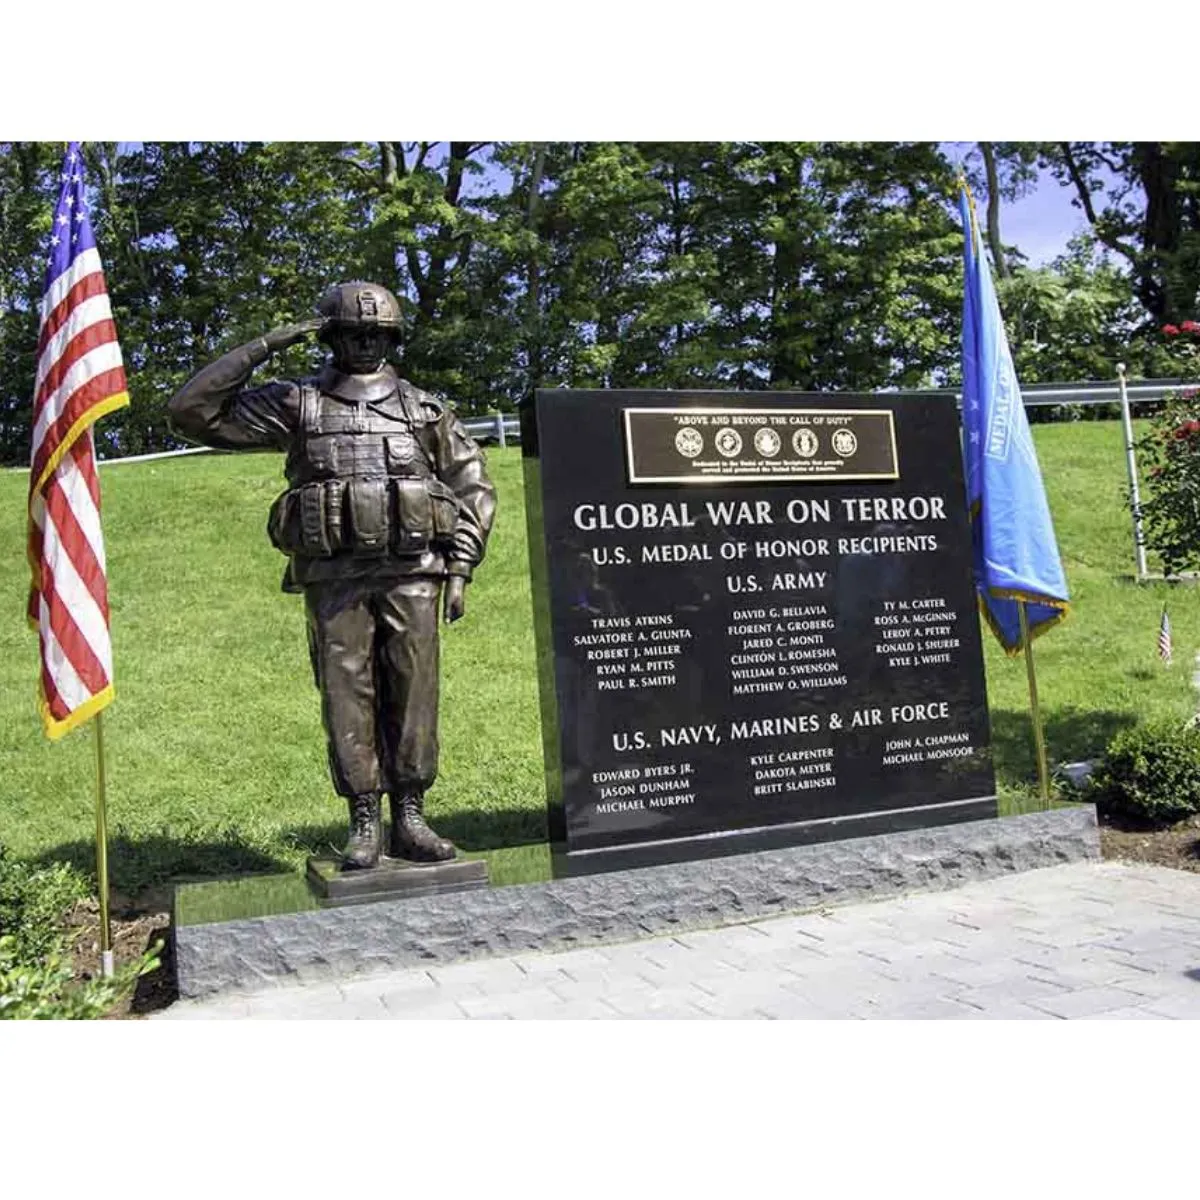
POLYGON ((41 713, 52 738, 89 720, 113 698, 91 426, 128 402, 88 220, 83 155, 72 142, 62 161, 46 265, 29 473, 29 619, 41 643, 41 713))

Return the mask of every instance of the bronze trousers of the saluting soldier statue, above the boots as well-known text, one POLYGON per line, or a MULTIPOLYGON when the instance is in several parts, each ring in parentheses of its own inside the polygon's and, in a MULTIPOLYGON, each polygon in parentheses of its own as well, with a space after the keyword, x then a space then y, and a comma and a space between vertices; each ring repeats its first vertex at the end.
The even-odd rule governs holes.
POLYGON ((424 792, 438 773, 439 580, 305 587, 329 770, 342 796, 424 792))

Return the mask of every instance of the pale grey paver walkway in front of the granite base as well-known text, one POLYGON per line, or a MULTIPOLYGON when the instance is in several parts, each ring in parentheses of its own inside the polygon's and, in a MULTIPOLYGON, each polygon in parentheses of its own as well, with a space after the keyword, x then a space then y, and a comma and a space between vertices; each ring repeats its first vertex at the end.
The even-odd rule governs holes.
POLYGON ((1084 863, 703 932, 182 1001, 186 1018, 1200 1018, 1200 875, 1084 863))

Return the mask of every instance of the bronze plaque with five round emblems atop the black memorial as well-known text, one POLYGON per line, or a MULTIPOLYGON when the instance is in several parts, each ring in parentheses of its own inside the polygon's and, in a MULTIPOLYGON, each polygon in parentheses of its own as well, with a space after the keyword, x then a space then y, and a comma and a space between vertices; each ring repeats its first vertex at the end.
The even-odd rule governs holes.
POLYGON ((625 408, 630 484, 899 479, 890 409, 625 408))

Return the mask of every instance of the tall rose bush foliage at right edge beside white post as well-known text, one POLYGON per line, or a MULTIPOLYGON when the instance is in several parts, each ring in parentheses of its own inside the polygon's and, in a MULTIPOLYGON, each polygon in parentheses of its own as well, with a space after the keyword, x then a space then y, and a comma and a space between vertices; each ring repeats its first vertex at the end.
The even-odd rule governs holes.
MULTIPOLYGON (((1136 444, 1146 479, 1141 512, 1146 546, 1168 576, 1200 568, 1200 397, 1171 396, 1136 444)), ((1132 497, 1127 497, 1132 505, 1132 497)))

